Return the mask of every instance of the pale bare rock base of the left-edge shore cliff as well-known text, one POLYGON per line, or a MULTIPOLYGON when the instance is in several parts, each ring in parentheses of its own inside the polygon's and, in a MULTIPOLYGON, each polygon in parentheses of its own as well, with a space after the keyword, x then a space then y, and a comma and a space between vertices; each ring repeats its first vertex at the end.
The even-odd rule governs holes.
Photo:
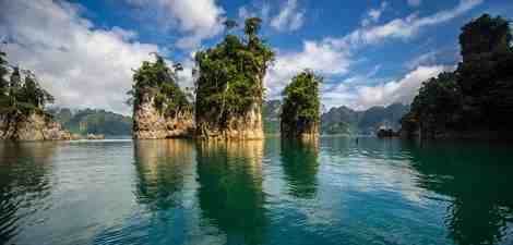
POLYGON ((0 139, 7 140, 69 140, 71 134, 46 115, 0 115, 0 139))

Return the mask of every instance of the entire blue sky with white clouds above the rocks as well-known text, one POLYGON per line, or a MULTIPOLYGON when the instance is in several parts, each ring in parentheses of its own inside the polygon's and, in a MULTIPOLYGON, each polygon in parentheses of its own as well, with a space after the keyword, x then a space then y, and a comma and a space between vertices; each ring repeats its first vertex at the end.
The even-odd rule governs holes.
POLYGON ((460 28, 487 12, 513 19, 509 0, 0 0, 11 62, 34 70, 58 106, 130 113, 123 105, 132 69, 150 52, 181 62, 223 38, 220 22, 263 19, 277 53, 267 98, 313 69, 325 78, 326 108, 367 109, 410 102, 421 82, 460 60, 460 28))

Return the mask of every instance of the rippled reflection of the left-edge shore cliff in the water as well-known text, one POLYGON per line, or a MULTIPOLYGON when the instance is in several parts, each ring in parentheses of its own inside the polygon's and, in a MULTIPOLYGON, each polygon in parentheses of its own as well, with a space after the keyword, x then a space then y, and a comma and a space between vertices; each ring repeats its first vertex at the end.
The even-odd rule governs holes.
POLYGON ((0 143, 0 244, 17 234, 23 212, 34 212, 50 194, 55 147, 53 143, 0 143))

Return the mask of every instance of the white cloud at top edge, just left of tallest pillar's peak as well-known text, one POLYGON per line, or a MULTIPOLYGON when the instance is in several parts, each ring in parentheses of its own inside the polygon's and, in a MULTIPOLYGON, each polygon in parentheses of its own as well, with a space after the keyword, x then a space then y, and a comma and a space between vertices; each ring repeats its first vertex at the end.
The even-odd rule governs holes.
MULTIPOLYGON (((215 0, 126 0, 141 8, 153 7, 164 26, 174 26, 183 35, 177 41, 182 49, 193 49, 201 41, 223 32, 225 10, 215 0)), ((152 8, 150 8, 152 9, 152 8)), ((165 29, 165 28, 164 28, 165 29)))

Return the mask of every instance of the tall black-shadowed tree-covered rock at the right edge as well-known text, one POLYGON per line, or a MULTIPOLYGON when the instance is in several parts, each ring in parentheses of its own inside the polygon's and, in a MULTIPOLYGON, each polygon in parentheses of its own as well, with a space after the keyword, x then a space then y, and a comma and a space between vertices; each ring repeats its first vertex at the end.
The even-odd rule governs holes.
POLYGON ((463 62, 456 73, 465 95, 467 122, 506 127, 513 113, 513 49, 510 23, 484 14, 462 28, 463 62))

